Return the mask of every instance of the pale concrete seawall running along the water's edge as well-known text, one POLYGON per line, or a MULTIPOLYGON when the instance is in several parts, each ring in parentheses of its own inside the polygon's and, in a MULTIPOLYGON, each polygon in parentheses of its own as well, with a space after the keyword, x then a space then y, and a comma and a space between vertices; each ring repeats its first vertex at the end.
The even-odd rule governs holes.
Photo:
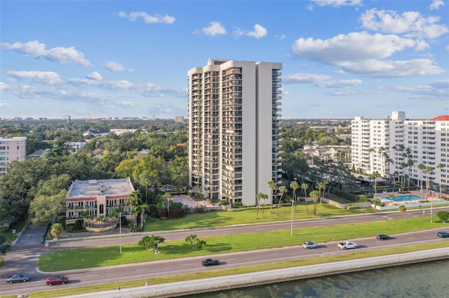
POLYGON ((260 271, 250 274, 204 278, 194 281, 181 281, 179 283, 148 285, 139 288, 95 292, 66 297, 180 297, 185 295, 199 294, 203 292, 216 292, 220 290, 246 288, 253 285, 264 285, 283 281, 295 281, 304 278, 344 274, 347 272, 363 271, 382 267, 392 267, 418 262, 428 262, 433 260, 443 260, 448 258, 449 248, 438 248, 412 253, 401 253, 397 255, 385 255, 381 257, 369 257, 342 262, 260 271))

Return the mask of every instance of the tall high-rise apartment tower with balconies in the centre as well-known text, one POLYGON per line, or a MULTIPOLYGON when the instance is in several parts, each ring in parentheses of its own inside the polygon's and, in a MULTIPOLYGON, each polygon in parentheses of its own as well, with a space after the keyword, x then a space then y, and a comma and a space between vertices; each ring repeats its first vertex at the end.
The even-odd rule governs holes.
POLYGON ((189 183, 255 205, 278 183, 281 63, 209 59, 189 78, 189 183))

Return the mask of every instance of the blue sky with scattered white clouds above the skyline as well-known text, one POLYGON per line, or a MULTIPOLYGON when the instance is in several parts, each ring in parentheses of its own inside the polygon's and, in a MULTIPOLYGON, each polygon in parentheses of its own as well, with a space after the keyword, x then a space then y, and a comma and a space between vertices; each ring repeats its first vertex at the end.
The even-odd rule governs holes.
POLYGON ((448 0, 0 2, 0 117, 187 117, 208 58, 281 62, 282 118, 449 115, 448 0))

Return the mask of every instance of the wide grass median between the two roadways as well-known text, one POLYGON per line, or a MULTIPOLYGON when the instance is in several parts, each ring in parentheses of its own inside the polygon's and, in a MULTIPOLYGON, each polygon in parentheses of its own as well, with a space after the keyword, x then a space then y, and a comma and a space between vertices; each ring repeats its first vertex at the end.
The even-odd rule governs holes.
MULTIPOLYGON (((122 246, 98 246, 93 248, 77 248, 72 250, 53 251, 43 255, 37 266, 41 271, 55 272, 71 269, 86 269, 90 267, 112 266, 139 262, 152 262, 180 257, 199 257, 201 255, 215 255, 220 253, 234 253, 237 251, 280 248, 284 246, 298 246, 304 241, 316 241, 326 245, 327 242, 372 237, 376 234, 399 234, 425 229, 448 227, 448 223, 429 218, 406 218, 403 220, 382 220, 377 222, 360 222, 345 225, 328 225, 325 227, 304 227, 283 229, 269 232, 254 232, 246 234, 230 234, 222 236, 203 237, 206 246, 201 250, 192 250, 184 239, 166 241, 155 255, 152 251, 135 244, 122 246)), ((192 231, 192 234, 195 234, 192 231)), ((143 236, 142 236, 143 237, 143 236)), ((359 246, 362 243, 358 243, 359 246)), ((334 245, 334 244, 332 244, 334 245)))

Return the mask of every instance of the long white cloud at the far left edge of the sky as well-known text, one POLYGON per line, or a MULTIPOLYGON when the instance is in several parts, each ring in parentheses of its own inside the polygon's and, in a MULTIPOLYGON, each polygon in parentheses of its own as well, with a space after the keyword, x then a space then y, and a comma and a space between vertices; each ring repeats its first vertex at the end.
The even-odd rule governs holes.
POLYGON ((50 61, 61 63, 76 63, 82 66, 90 66, 91 62, 84 59, 82 52, 78 52, 74 47, 69 48, 51 48, 46 49, 45 43, 39 41, 28 41, 27 43, 16 42, 13 44, 1 43, 1 47, 6 50, 17 50, 22 54, 32 56, 34 58, 43 57, 50 61))

